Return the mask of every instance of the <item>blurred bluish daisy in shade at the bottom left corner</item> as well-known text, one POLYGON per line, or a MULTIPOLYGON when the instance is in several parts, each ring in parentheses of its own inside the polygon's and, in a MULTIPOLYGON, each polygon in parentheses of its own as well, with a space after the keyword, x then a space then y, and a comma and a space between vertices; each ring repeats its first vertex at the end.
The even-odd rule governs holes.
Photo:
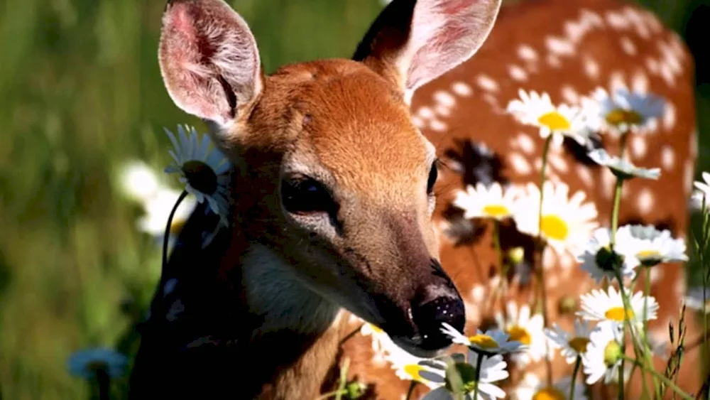
POLYGON ((99 370, 114 378, 124 373, 128 362, 128 357, 116 350, 97 347, 72 353, 67 369, 70 374, 84 379, 94 379, 99 370))

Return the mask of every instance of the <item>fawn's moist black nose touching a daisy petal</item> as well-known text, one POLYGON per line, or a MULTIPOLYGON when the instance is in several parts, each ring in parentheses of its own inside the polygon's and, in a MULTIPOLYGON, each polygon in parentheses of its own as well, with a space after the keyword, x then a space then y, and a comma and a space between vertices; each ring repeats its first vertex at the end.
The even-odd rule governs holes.
POLYGON ((466 323, 464 301, 453 285, 430 288, 427 292, 437 293, 424 298, 413 306, 412 319, 417 327, 422 350, 436 351, 451 345, 451 338, 442 333, 442 323, 448 323, 462 332, 466 323))

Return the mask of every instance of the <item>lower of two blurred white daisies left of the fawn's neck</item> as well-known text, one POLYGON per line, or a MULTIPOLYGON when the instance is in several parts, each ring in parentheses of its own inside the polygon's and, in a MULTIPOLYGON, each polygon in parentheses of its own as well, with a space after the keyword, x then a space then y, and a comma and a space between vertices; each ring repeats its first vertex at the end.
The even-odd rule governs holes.
MULTIPOLYGON (((168 188, 160 188, 153 197, 143 203, 144 215, 138 218, 138 229, 163 241, 165 235, 165 225, 168 225, 170 211, 173 210, 175 202, 180 197, 180 192, 168 188)), ((187 220, 195 210, 197 203, 191 198, 185 198, 178 205, 178 210, 173 215, 173 222, 170 225, 170 236, 175 237, 185 225, 187 220)))

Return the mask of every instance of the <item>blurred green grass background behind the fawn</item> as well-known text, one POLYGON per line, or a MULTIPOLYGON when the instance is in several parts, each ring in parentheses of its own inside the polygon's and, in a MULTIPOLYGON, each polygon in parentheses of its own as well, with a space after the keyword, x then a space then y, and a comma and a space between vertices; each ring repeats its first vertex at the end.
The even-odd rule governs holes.
MULTIPOLYGON (((228 2, 249 21, 266 72, 349 57, 382 7, 379 0, 228 2)), ((699 171, 708 171, 710 68, 700 55, 710 1, 640 2, 697 57, 699 171)), ((138 159, 161 171, 168 163, 163 126, 204 131, 173 105, 160 78, 164 3, 2 0, 1 399, 85 398, 87 384, 67 372, 72 352, 136 350, 133 323, 153 295, 160 244, 137 228, 143 209, 119 194, 117 168, 138 159)), ((170 177, 163 183, 178 188, 170 177)), ((124 389, 119 381, 116 398, 124 389)))

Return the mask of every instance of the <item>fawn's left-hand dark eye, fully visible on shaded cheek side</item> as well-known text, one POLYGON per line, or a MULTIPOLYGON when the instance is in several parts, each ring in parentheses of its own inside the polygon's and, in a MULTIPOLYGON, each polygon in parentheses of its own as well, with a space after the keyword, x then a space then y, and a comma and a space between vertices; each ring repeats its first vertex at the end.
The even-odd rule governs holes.
POLYGON ((307 177, 285 178, 281 181, 281 201, 292 214, 337 211, 337 204, 325 186, 307 177))

